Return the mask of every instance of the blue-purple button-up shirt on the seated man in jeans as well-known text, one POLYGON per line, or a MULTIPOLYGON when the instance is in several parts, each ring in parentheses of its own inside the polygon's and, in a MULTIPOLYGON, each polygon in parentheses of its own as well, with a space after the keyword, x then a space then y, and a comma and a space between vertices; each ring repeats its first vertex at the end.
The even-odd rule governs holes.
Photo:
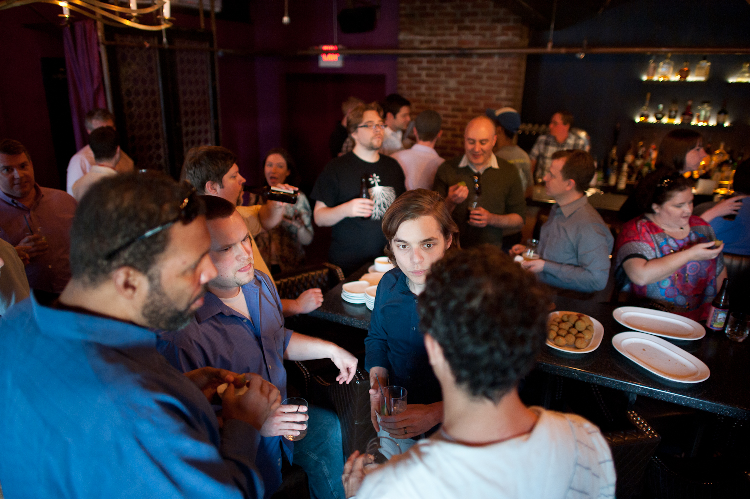
MULTIPOLYGON (((292 331, 284 327, 281 299, 271 278, 255 271, 256 278, 242 287, 250 320, 225 305, 213 293, 189 326, 160 334, 159 351, 181 371, 211 366, 239 373, 260 374, 287 398, 284 352, 292 331)), ((281 486, 282 443, 290 462, 294 444, 283 437, 261 437, 256 465, 270 497, 281 486)))

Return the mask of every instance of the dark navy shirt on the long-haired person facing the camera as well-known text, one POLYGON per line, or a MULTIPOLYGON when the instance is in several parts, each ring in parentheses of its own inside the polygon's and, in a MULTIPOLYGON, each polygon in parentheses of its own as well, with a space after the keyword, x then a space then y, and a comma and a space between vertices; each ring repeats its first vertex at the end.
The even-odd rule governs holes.
POLYGON ((401 269, 383 276, 365 338, 365 369, 388 369, 389 383, 406 388, 410 404, 434 404, 443 400, 443 393, 419 331, 418 302, 401 269))

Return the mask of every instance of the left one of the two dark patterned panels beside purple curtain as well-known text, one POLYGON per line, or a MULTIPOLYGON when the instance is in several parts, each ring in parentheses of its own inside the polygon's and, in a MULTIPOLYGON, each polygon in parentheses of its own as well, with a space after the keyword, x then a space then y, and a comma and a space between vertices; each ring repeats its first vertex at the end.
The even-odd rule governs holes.
MULTIPOLYGON (((153 37, 115 35, 124 44, 157 44, 153 37)), ((159 53, 138 47, 117 47, 119 83, 129 154, 136 168, 169 173, 159 87, 159 53)))

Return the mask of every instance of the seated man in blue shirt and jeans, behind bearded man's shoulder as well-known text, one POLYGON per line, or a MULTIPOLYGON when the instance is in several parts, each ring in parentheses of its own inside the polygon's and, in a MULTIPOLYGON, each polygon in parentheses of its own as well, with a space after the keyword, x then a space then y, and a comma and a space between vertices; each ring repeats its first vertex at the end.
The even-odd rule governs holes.
MULTIPOLYGON (((357 359, 329 341, 300 335, 284 327, 281 300, 271 278, 254 268, 248 226, 233 203, 220 197, 202 198, 211 233, 211 260, 218 276, 208 283, 205 305, 184 330, 164 332, 159 350, 182 371, 211 366, 260 374, 287 397, 284 359, 331 359, 341 370, 337 380, 349 383, 357 359)), ((341 474, 344 453, 341 425, 335 413, 318 407, 308 415, 298 406, 282 405, 260 430, 263 439, 256 461, 266 483, 266 497, 281 486, 284 458, 307 472, 313 497, 344 499, 341 474), (293 444, 284 436, 308 429, 304 440, 293 444), (282 450, 283 449, 283 450, 282 450)), ((304 407, 302 409, 304 411, 304 407)))

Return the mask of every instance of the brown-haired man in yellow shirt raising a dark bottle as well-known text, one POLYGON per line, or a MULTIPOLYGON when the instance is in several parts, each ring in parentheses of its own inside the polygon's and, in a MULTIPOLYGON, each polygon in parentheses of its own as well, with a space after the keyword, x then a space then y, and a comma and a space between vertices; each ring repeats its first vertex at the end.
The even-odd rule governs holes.
MULTIPOLYGON (((245 178, 239 173, 237 156, 229 149, 218 146, 193 147, 185 156, 182 177, 196 188, 198 194, 221 197, 234 205, 242 203, 245 178)), ((297 190, 296 187, 286 184, 280 184, 278 187, 290 191, 297 190)), ((255 266, 270 278, 271 271, 263 261, 255 236, 281 224, 284 218, 284 203, 269 201, 264 205, 237 206, 237 211, 250 231, 253 252, 256 255, 255 266)), ((323 291, 320 288, 306 290, 298 299, 282 299, 281 305, 284 308, 284 317, 309 314, 323 305, 323 291)))

